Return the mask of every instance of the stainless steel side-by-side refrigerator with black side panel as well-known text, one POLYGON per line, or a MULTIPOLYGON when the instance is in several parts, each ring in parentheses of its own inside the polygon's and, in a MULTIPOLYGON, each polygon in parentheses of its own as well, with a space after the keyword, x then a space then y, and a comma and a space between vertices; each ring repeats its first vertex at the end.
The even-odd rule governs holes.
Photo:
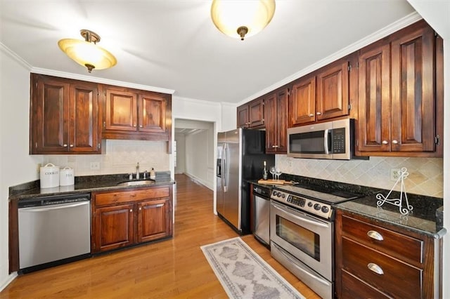
POLYGON ((265 131, 238 128, 217 134, 217 214, 239 234, 251 232, 248 180, 262 178, 264 161, 275 165, 265 143, 265 131))

